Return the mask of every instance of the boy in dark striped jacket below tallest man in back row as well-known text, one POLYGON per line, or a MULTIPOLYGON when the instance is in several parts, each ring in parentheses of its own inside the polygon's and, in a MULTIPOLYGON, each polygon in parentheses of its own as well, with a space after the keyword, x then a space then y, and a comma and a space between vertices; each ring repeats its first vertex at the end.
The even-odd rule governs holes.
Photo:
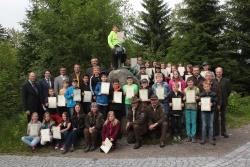
MULTIPOLYGON (((93 96, 95 95, 94 91, 95 91, 96 84, 98 82, 101 82, 100 73, 101 71, 100 71, 99 66, 93 67, 93 75, 89 79, 89 88, 93 96)), ((95 99, 95 97, 93 98, 95 99)))

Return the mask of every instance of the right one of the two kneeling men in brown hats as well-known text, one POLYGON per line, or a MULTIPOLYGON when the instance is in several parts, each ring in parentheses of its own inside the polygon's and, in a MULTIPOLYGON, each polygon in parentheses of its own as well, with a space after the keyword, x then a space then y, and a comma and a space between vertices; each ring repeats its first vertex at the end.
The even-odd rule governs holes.
POLYGON ((152 135, 160 134, 160 147, 165 146, 166 131, 168 128, 167 116, 164 107, 159 103, 158 97, 152 95, 150 97, 150 106, 148 107, 149 131, 152 135))

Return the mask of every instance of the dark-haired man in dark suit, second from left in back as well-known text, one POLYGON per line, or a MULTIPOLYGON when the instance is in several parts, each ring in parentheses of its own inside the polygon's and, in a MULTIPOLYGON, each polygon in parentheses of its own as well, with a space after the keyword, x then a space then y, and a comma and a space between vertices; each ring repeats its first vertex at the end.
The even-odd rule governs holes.
POLYGON ((44 78, 39 82, 41 86, 41 93, 43 97, 43 102, 48 97, 49 88, 54 88, 54 80, 51 78, 51 73, 49 70, 44 72, 44 78))

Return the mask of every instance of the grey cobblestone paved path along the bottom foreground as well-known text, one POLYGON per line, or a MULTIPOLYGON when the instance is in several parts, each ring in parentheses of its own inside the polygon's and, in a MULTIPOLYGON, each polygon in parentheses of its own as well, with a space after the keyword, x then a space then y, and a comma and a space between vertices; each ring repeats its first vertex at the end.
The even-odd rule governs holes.
POLYGON ((250 142, 223 157, 167 158, 68 158, 38 156, 0 156, 0 167, 250 167, 250 142))

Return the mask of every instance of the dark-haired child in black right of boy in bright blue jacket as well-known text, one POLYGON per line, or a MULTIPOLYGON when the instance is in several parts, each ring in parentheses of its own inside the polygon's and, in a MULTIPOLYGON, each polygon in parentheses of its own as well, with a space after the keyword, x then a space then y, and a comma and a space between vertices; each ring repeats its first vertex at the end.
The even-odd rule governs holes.
MULTIPOLYGON (((82 96, 84 96, 84 91, 90 91, 89 76, 87 74, 83 75, 82 80, 83 80, 83 82, 80 85, 80 89, 81 89, 81 92, 82 92, 82 96)), ((84 111, 85 114, 89 113, 89 111, 90 111, 90 104, 91 104, 90 102, 83 102, 82 103, 83 111, 84 111)))

